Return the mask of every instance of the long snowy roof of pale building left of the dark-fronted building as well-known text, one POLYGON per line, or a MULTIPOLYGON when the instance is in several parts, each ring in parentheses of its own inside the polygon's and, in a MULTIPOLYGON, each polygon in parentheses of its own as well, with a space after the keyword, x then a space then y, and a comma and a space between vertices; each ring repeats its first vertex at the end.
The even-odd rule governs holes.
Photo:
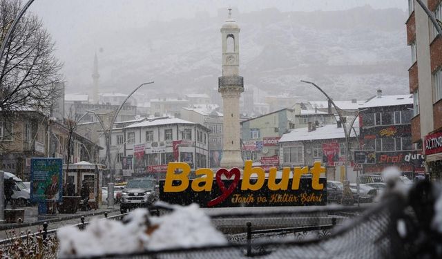
MULTIPOLYGON (((354 129, 356 130, 356 133, 359 134, 358 122, 354 123, 354 129)), ((355 137, 353 130, 350 137, 355 137)), ((308 128, 295 128, 289 133, 282 135, 279 142, 330 140, 339 138, 345 138, 344 128, 338 128, 336 124, 328 124, 322 127, 317 127, 315 131, 310 132, 308 128)))

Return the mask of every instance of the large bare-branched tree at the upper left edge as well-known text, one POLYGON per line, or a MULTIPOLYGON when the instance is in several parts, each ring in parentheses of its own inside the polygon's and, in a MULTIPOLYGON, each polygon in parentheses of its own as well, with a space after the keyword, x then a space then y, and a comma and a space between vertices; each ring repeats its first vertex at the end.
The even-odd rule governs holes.
MULTIPOLYGON (((21 8, 19 0, 0 0, 0 38, 8 31, 21 8)), ((0 57, 0 109, 17 111, 33 108, 49 113, 54 83, 61 81, 62 64, 55 57, 55 44, 42 21, 25 14, 0 57)))

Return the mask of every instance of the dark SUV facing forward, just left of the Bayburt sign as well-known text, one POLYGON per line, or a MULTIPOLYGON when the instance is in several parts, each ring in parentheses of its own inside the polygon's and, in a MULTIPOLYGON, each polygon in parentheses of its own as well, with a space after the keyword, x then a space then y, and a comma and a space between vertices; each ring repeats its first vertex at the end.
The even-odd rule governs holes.
POLYGON ((156 181, 152 178, 135 178, 129 180, 122 191, 121 213, 128 209, 148 208, 158 200, 156 181))

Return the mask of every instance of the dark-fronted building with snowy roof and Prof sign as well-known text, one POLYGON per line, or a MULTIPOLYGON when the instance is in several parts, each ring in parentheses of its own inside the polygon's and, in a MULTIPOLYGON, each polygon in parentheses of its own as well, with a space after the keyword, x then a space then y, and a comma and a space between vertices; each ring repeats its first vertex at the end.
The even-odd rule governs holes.
POLYGON ((381 173, 389 166, 396 166, 410 178, 423 173, 422 148, 412 143, 412 95, 383 96, 378 90, 359 111, 361 150, 369 155, 363 173, 381 173))

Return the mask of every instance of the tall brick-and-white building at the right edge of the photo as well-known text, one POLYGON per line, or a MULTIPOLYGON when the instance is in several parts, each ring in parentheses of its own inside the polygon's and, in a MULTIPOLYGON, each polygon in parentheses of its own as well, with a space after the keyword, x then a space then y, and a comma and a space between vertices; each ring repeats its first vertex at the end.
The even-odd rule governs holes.
MULTIPOLYGON (((423 0, 425 6, 442 20, 442 3, 423 0)), ((433 180, 442 177, 442 35, 415 0, 408 1, 407 44, 411 48, 410 93, 414 95, 411 121, 412 142, 421 143, 425 171, 433 180)))

